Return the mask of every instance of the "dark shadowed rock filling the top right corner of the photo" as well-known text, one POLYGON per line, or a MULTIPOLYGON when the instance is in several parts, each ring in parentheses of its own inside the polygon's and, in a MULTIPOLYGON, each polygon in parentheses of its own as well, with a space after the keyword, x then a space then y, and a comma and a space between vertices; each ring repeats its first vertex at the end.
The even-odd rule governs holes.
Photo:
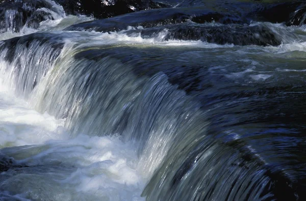
POLYGON ((305 20, 305 6, 305 1, 302 0, 185 0, 177 7, 205 7, 218 13, 227 11, 231 15, 246 17, 248 21, 286 22, 287 25, 300 25, 305 20))

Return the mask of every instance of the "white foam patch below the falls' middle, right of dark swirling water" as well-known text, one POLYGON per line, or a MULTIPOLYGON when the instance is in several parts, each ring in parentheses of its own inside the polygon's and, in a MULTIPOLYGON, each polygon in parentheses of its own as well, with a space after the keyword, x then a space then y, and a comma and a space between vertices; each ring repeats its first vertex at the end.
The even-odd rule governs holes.
POLYGON ((119 200, 132 200, 136 194, 137 200, 142 199, 144 182, 135 169, 137 157, 130 143, 123 143, 116 136, 79 135, 70 140, 50 140, 46 145, 48 149, 19 161, 32 165, 60 162, 64 166, 77 166, 59 183, 74 184, 78 192, 96 194, 101 191, 99 194, 110 199, 116 195, 119 200))

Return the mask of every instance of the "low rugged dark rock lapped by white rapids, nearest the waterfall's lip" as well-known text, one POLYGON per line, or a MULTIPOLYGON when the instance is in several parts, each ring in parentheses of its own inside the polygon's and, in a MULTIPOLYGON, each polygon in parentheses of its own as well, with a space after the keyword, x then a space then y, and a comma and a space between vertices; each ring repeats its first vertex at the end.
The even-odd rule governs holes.
POLYGON ((157 38, 167 31, 163 40, 201 40, 203 42, 234 45, 273 45, 282 43, 281 39, 264 25, 220 25, 200 26, 192 24, 176 24, 164 27, 145 28, 127 31, 127 35, 140 34, 142 38, 157 38))

